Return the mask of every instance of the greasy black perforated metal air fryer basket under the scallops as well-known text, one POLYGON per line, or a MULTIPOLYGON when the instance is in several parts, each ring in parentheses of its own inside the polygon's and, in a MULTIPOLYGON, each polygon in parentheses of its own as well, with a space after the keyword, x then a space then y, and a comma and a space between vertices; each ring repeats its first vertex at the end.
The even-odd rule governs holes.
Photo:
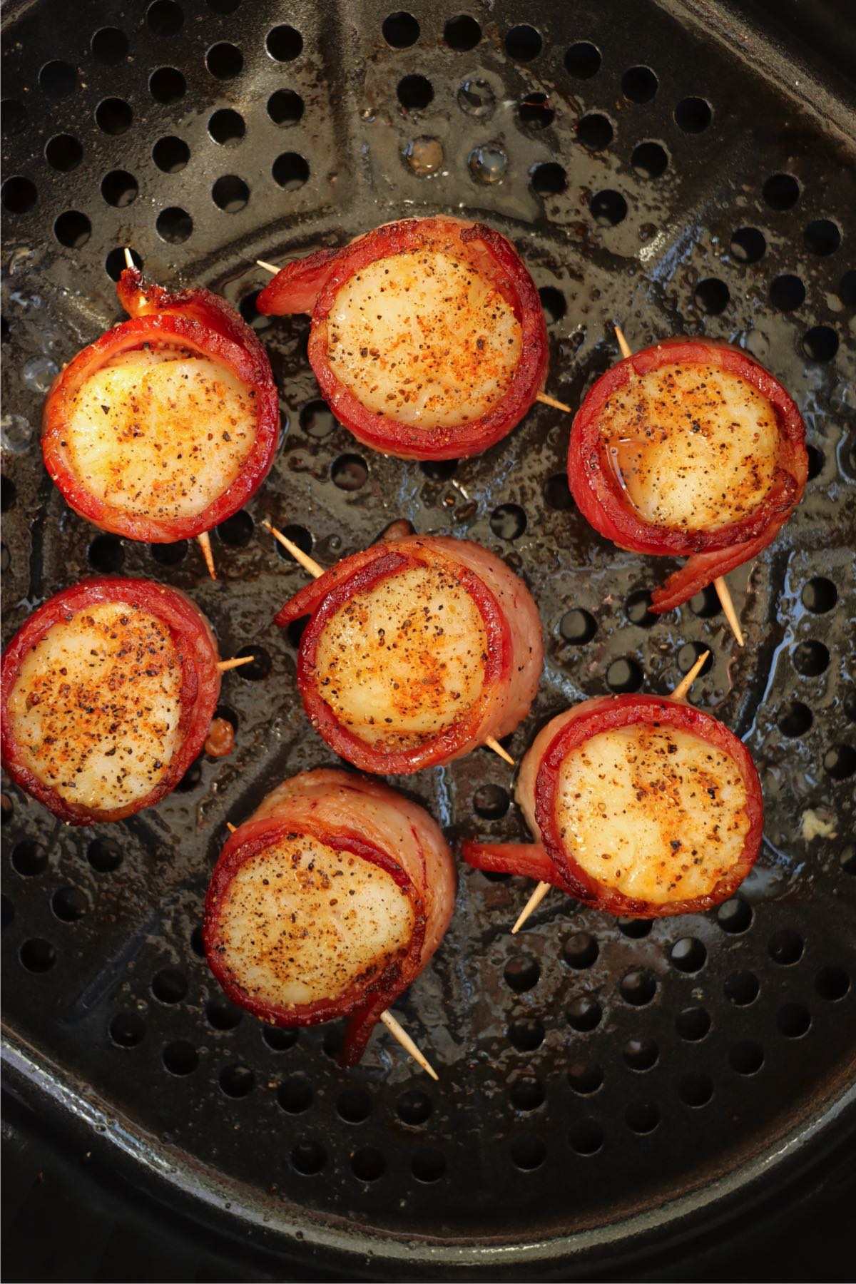
MULTIPOLYGON (((67 831, 5 787, 9 1073, 176 1207, 368 1278, 619 1260, 746 1212, 852 1118, 852 114, 723 8, 705 26, 678 4, 533 4, 535 37, 511 4, 470 12, 468 49, 475 27, 447 24, 457 8, 413 5, 403 45, 413 24, 385 26, 375 0, 17 5, 5 32, 21 110, 3 144, 4 639, 49 593, 121 568, 189 589, 223 654, 266 657, 226 678, 232 758, 201 759, 154 811, 67 831), (407 159, 424 137, 444 149, 432 176, 407 159), (812 479, 776 544, 730 577, 743 651, 710 593, 646 615, 666 564, 615 550, 572 508, 561 415, 538 407, 457 467, 385 460, 316 404, 308 324, 255 317, 255 257, 438 211, 483 217, 524 253, 553 317, 554 395, 576 403, 612 362, 613 320, 637 347, 676 331, 739 343, 793 392, 812 479), (194 548, 155 556, 94 532, 41 467, 44 389, 118 318, 105 263, 124 244, 154 279, 239 303, 280 385, 287 433, 214 541, 216 584, 194 548), (225 820, 329 761, 294 691, 296 638, 270 624, 303 573, 263 516, 300 528, 325 565, 407 517, 520 570, 547 670, 516 756, 569 701, 666 691, 711 646, 693 700, 746 738, 766 800, 739 898, 649 926, 551 896, 512 939, 527 885, 462 869, 453 926, 403 1004, 439 1086, 385 1035, 345 1073, 335 1028, 271 1036, 225 1005, 198 953, 225 820), (806 836, 809 813, 826 836, 806 836)), ((524 833, 486 751, 395 783, 453 841, 524 833)))

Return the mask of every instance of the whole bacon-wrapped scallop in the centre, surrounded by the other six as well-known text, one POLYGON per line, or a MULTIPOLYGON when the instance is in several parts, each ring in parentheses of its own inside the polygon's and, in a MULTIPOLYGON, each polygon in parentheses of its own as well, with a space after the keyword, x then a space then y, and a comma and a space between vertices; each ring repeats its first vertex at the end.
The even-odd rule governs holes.
POLYGON ((276 623, 303 615, 307 715, 366 772, 417 772, 508 736, 538 690, 544 650, 533 596, 470 541, 373 544, 302 588, 276 623))

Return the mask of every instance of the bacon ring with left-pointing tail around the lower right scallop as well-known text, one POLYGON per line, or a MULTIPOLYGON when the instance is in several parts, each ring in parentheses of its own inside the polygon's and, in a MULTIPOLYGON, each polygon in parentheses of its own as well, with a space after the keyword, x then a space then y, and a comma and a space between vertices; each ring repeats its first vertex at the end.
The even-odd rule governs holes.
MULTIPOLYGON (((561 715, 560 715, 561 716, 561 715)), ((556 719, 558 720, 558 719, 556 719)), ((545 728, 549 733, 549 724, 545 728)), ((544 733, 542 733, 544 734, 544 733)), ((539 752, 538 745, 530 752, 539 752)), ((522 767, 521 767, 522 770, 522 767)), ((749 751, 738 737, 711 714, 679 701, 658 696, 626 695, 586 700, 575 716, 565 720, 547 743, 534 773, 535 820, 540 842, 483 844, 467 840, 463 859, 476 869, 524 874, 553 883, 569 896, 606 910, 608 914, 633 918, 666 918, 674 914, 699 914, 733 896, 755 864, 764 832, 764 799, 761 781, 749 751), (734 867, 705 896, 672 900, 666 904, 625 896, 613 887, 592 878, 562 842, 556 818, 556 794, 562 763, 567 754, 592 736, 638 723, 666 723, 706 740, 732 758, 746 787, 746 811, 749 828, 743 850, 734 867)))

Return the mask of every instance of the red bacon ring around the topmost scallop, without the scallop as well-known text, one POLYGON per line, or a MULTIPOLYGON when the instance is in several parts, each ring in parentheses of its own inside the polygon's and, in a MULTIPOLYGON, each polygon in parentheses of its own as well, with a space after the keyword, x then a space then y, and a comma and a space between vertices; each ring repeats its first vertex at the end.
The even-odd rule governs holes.
POLYGON ((336 417, 372 449, 404 460, 456 460, 502 440, 524 417, 547 379, 547 325, 535 282, 520 254, 484 223, 403 218, 384 223, 341 250, 318 250, 286 263, 258 298, 259 312, 312 311, 309 363, 336 417), (327 316, 338 290, 377 259, 411 249, 449 249, 488 275, 513 308, 522 331, 517 369, 506 395, 479 419, 453 428, 418 428, 366 410, 330 365, 327 316))

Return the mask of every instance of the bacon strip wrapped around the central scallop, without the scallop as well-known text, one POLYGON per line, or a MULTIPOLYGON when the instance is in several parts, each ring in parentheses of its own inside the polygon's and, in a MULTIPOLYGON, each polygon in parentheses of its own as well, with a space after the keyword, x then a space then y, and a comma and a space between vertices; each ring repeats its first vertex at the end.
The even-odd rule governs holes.
MULTIPOLYGON (((486 548, 444 535, 411 535, 347 557, 300 589, 275 616, 285 627, 311 620, 300 639, 298 687, 312 724, 332 750, 362 770, 380 776, 417 772, 461 758, 489 736, 508 736, 529 713, 543 665, 538 607, 522 580, 486 548), (411 566, 450 570, 475 601, 488 637, 484 684, 468 711, 415 747, 384 751, 358 738, 336 718, 318 684, 316 657, 325 624, 359 592, 411 566)), ((418 681, 420 674, 413 674, 418 681)), ((390 709, 390 732, 394 727, 390 709)))

